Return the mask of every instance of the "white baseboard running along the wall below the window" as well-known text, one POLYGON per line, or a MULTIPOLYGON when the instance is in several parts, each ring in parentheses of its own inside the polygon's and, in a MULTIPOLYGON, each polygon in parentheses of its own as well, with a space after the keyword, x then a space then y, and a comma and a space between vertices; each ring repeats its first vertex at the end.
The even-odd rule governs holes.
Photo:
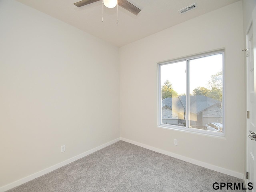
POLYGON ((185 157, 185 156, 182 156, 182 155, 178 155, 178 154, 175 154, 175 153, 172 153, 172 152, 168 152, 166 150, 158 149, 158 148, 155 148, 155 147, 152 147, 152 146, 149 146, 149 145, 146 145, 146 144, 142 144, 142 143, 139 143, 139 142, 136 142, 136 141, 132 141, 132 140, 129 140, 129 139, 126 139, 126 138, 121 137, 121 140, 125 141, 125 142, 128 142, 128 143, 131 143, 131 144, 134 144, 134 145, 137 145, 137 146, 140 146, 140 147, 143 147, 143 148, 146 148, 146 149, 149 149, 149 150, 152 150, 152 151, 155 151, 155 152, 158 152, 158 153, 162 153, 162 154, 165 154, 165 155, 168 155, 168 156, 171 156, 171 157, 174 157, 174 158, 177 158, 177 159, 180 159, 180 160, 183 160, 183 161, 201 166, 201 167, 204 167, 204 168, 208 168, 210 170, 214 170, 214 171, 224 173, 224 174, 234 176, 236 178, 240 178, 240 179, 244 180, 244 174, 242 174, 242 173, 234 172, 232 170, 228 170, 228 169, 221 168, 221 167, 218 167, 218 166, 215 166, 215 165, 212 165, 212 164, 201 162, 201 161, 198 161, 198 160, 195 160, 195 159, 192 159, 192 158, 188 158, 188 157, 185 157))

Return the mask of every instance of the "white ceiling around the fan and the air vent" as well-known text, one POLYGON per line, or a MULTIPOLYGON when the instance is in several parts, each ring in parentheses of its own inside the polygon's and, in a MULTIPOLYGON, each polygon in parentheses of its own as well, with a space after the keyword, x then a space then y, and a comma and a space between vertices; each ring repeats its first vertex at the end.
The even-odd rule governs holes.
POLYGON ((141 9, 135 16, 118 7, 103 9, 102 1, 76 7, 79 0, 17 0, 116 46, 123 46, 239 0, 128 0, 141 9), (180 15, 178 10, 197 3, 198 8, 180 15))

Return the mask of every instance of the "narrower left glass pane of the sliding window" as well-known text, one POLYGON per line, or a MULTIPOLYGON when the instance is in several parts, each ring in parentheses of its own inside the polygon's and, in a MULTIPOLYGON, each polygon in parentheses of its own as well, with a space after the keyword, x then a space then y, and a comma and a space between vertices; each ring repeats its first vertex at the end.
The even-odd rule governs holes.
POLYGON ((160 66, 162 124, 186 127, 186 61, 160 66))

